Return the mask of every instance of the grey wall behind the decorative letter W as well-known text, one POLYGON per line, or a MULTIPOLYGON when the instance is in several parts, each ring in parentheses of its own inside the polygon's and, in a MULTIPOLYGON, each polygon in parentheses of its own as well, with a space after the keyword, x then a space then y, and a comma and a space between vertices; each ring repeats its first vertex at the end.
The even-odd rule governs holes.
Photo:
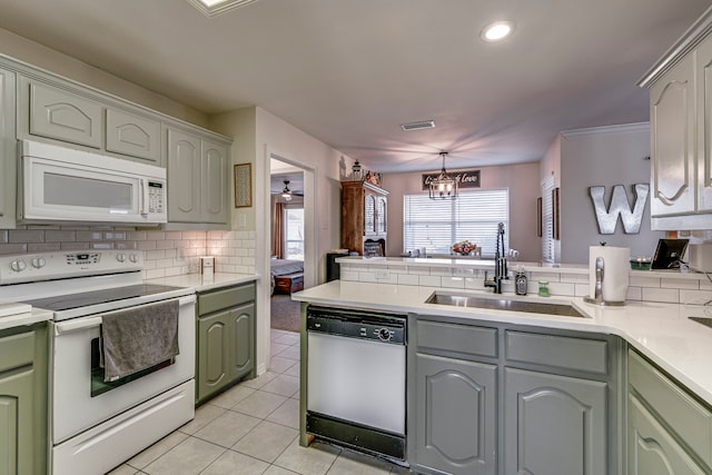
POLYGON ((630 247, 631 256, 651 256, 664 232, 650 229, 650 196, 639 234, 625 234, 620 220, 615 234, 602 235, 589 187, 623 185, 633 204, 632 186, 650 184, 650 127, 632 123, 570 130, 561 133, 561 261, 587 264, 589 246, 630 247))

